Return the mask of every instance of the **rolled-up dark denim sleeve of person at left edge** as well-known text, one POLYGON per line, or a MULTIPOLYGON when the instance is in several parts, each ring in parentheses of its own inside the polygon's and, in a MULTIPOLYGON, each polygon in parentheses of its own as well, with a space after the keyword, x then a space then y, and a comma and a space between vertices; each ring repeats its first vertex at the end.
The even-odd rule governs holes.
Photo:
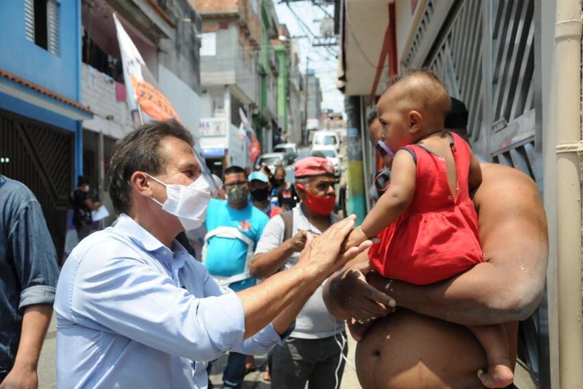
POLYGON ((19 309, 52 304, 59 275, 57 255, 36 200, 28 202, 15 216, 8 236, 21 285, 19 309))

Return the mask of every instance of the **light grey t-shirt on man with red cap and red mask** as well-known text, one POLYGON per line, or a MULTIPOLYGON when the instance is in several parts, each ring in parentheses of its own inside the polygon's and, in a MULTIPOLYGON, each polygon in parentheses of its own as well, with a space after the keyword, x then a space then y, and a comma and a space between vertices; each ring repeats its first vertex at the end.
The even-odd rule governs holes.
MULTIPOLYGON (((292 236, 301 230, 320 234, 318 228, 314 227, 307 220, 307 217, 302 212, 302 207, 298 205, 298 207, 292 210, 292 213, 294 215, 292 236)), ((330 217, 333 223, 339 220, 336 215, 331 215, 330 217)), ((280 216, 272 218, 263 230, 263 235, 259 239, 255 254, 262 254, 263 252, 274 250, 274 248, 281 245, 283 243, 284 230, 283 219, 280 216)), ((298 257, 300 257, 299 253, 294 252, 285 262, 284 268, 289 269, 298 263, 298 257)), ((298 314, 296 329, 294 329, 294 332, 290 336, 302 339, 321 339, 329 338, 344 331, 344 320, 337 320, 326 309, 324 299, 322 298, 323 290, 324 287, 320 285, 316 292, 309 298, 306 305, 304 305, 298 314)))

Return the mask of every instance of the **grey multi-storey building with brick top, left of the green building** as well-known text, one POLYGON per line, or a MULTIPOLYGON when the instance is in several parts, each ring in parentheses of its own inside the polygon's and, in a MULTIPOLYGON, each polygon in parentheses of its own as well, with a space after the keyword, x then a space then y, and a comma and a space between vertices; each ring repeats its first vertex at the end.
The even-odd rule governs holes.
POLYGON ((221 176, 228 165, 248 165, 239 110, 251 118, 259 107, 261 6, 259 0, 191 3, 202 16, 200 143, 207 164, 221 176))

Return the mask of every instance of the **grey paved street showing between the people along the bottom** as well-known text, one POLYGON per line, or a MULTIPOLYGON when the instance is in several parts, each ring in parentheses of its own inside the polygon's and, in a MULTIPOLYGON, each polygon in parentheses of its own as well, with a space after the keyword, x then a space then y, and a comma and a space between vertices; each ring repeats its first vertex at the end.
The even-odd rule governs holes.
MULTIPOLYGON (((348 360, 350 364, 354 366, 354 352, 355 352, 355 342, 352 338, 349 338, 348 346, 348 360)), ((55 371, 55 345, 56 345, 56 329, 55 320, 51 322, 51 327, 47 333, 47 338, 45 339, 45 344, 43 345, 43 351, 40 353, 40 362, 38 364, 38 388, 39 389, 52 389, 56 388, 56 371, 55 371)), ((265 366, 265 358, 259 357, 256 359, 259 370, 253 373, 249 373, 245 377, 245 383, 243 384, 243 389, 269 389, 271 385, 263 381, 263 370, 265 366)), ((219 362, 213 367, 213 375, 211 375, 211 380, 215 386, 221 384, 222 371, 226 364, 226 356, 219 359, 219 362)), ((356 372, 350 366, 346 365, 344 370, 344 377, 342 378, 342 385, 340 389, 355 389, 360 388, 358 384, 358 379, 356 377, 356 372)), ((219 386, 220 387, 220 386, 219 386)))

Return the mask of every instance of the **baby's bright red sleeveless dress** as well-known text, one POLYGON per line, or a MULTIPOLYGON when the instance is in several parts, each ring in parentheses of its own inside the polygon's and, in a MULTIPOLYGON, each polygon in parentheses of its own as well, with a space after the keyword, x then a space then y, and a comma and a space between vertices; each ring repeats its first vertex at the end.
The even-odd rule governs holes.
POLYGON ((421 145, 405 148, 417 165, 413 200, 368 252, 374 268, 385 277, 425 285, 449 279, 483 259, 468 187, 471 150, 457 134, 450 135, 457 196, 449 189, 442 157, 421 145))

